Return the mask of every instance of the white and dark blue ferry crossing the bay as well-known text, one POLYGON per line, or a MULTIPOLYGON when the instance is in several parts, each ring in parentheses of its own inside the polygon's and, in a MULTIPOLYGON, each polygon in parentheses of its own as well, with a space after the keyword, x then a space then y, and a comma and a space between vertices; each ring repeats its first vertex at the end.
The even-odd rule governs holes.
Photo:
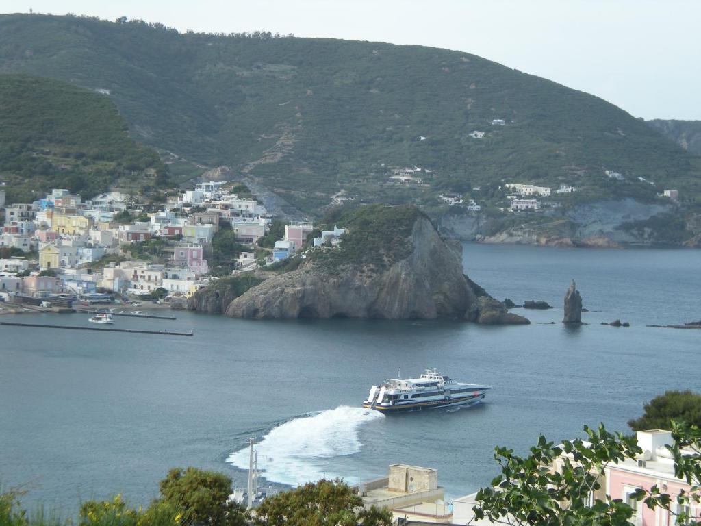
POLYGON ((491 386, 464 384, 427 369, 418 378, 390 378, 380 386, 372 386, 362 407, 381 412, 440 409, 472 405, 484 398, 491 386))

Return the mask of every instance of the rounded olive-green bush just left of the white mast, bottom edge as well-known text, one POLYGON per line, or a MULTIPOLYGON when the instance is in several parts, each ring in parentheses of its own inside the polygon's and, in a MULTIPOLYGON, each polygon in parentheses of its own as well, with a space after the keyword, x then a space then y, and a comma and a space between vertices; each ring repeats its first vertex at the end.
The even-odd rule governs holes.
POLYGON ((161 501, 181 508, 191 526, 244 526, 245 510, 229 501, 231 478, 197 468, 173 468, 160 483, 161 501))

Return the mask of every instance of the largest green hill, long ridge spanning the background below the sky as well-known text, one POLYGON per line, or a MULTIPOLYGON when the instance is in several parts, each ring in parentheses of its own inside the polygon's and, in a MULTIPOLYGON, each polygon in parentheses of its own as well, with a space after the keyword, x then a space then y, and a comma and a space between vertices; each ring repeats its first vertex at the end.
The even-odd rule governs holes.
POLYGON ((255 175, 311 212, 341 189, 358 201, 430 205, 438 191, 505 181, 575 184, 578 200, 651 200, 660 187, 700 194, 699 159, 643 121, 457 51, 4 15, 2 70, 109 90, 139 141, 255 175), (432 170, 427 186, 388 185, 402 166, 432 170))

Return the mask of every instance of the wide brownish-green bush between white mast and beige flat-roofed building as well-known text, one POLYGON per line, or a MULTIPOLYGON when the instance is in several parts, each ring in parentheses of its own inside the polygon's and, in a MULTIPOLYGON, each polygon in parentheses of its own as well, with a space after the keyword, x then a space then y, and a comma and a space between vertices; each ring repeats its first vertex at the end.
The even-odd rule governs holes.
POLYGON ((269 497, 256 509, 255 526, 390 526, 392 513, 362 499, 341 480, 319 480, 269 497))

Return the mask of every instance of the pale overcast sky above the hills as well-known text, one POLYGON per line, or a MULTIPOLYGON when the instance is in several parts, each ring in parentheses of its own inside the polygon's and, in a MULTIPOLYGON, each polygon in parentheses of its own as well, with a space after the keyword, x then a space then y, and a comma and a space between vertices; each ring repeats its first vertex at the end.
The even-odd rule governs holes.
POLYGON ((180 30, 466 51, 593 93, 645 119, 701 120, 701 0, 1 0, 180 30))

